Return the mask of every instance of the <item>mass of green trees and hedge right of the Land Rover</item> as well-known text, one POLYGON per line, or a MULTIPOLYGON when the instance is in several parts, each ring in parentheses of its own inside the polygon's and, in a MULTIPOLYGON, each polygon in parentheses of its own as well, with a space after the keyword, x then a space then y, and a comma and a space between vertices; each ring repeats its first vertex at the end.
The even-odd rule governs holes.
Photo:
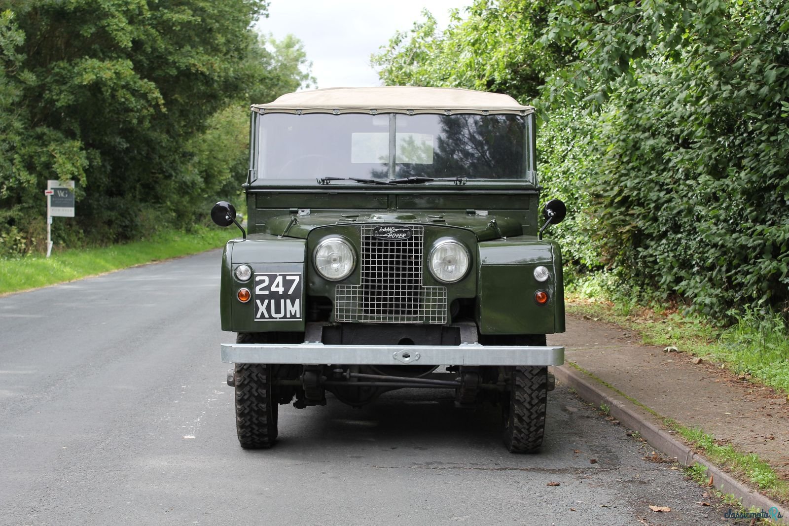
POLYGON ((716 318, 789 308, 789 5, 476 0, 373 58, 387 84, 506 91, 541 111, 547 196, 581 268, 716 318))

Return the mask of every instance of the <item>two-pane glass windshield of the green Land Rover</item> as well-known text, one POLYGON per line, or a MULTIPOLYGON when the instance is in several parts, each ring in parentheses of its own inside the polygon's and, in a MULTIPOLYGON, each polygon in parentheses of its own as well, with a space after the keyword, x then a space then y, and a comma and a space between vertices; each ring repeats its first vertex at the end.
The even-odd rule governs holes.
POLYGON ((525 180, 525 117, 510 114, 264 114, 256 177, 525 180))

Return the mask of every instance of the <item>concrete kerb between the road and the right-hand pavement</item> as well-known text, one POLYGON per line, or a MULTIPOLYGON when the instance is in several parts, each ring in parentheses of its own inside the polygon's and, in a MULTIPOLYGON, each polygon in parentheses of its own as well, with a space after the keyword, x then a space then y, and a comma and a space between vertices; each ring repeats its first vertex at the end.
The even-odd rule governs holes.
POLYGON ((552 367, 552 373, 559 382, 563 382, 576 390, 578 396, 595 407, 600 407, 603 404, 608 405, 611 416, 619 420, 628 429, 638 431, 638 434, 660 453, 673 458, 679 464, 685 466, 694 464, 705 466, 707 468, 707 476, 712 476, 713 486, 721 493, 733 494, 735 498, 741 499, 740 502, 742 502, 742 506, 745 509, 753 507, 768 510, 775 507, 783 515, 783 519, 772 522, 775 524, 789 524, 789 510, 765 497, 765 495, 740 483, 705 457, 694 453, 694 450, 691 450, 690 447, 679 442, 677 438, 665 431, 655 416, 649 414, 649 412, 646 412, 600 382, 589 378, 588 375, 576 371, 569 365, 552 367))

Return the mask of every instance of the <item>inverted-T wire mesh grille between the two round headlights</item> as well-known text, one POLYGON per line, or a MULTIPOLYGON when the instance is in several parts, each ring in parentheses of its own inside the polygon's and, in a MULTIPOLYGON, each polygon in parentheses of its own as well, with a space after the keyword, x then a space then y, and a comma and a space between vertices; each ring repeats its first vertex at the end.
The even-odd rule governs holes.
POLYGON ((407 240, 372 235, 361 226, 361 284, 337 285, 338 322, 447 323, 447 288, 422 285, 424 227, 407 240))

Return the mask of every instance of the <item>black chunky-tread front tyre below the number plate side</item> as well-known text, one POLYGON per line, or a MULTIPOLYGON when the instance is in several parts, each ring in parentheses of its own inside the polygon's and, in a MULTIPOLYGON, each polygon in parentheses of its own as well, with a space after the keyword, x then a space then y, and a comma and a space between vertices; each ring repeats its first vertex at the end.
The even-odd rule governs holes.
MULTIPOLYGON (((238 343, 253 343, 252 334, 238 334, 238 343)), ((277 440, 277 395, 271 386, 271 365, 236 364, 236 431, 245 450, 267 449, 277 440)))

